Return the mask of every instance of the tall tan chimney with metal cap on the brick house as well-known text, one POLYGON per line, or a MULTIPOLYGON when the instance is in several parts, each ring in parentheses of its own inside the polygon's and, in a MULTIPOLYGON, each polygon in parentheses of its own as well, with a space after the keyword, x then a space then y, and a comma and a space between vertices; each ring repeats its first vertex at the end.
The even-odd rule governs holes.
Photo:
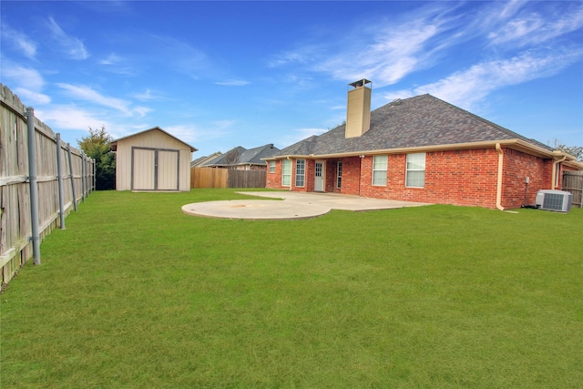
POLYGON ((363 78, 348 84, 345 138, 358 138, 371 128, 372 81, 363 78), (368 84, 368 86, 367 86, 368 84))

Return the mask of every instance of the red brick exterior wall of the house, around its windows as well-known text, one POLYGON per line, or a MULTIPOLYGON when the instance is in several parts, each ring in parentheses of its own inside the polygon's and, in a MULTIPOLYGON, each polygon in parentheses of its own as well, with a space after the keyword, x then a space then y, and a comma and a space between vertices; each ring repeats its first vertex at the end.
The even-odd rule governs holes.
MULTIPOLYGON (((525 195, 526 203, 532 204, 539 189, 551 188, 551 159, 540 159, 511 148, 503 148, 503 152, 501 202, 504 208, 519 208, 524 205, 525 195)), ((338 160, 341 159, 326 160, 325 189, 328 192, 376 199, 496 208, 498 174, 496 148, 426 153, 424 188, 406 187, 406 154, 392 154, 388 156, 386 186, 372 185, 373 157, 365 156, 362 159, 360 157, 342 159, 342 188, 337 189, 338 160)), ((305 187, 295 188, 295 160, 292 160, 292 190, 313 191, 314 166, 315 160, 306 160, 305 187)), ((281 187, 281 160, 276 163, 275 173, 267 173, 267 188, 290 189, 281 187)))

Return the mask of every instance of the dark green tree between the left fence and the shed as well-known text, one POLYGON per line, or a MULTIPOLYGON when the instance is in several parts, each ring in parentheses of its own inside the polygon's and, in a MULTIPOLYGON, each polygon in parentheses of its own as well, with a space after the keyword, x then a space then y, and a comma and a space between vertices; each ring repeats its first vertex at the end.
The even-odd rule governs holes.
POLYGON ((95 159, 97 190, 116 189, 116 155, 109 149, 112 140, 103 125, 89 128, 89 136, 77 140, 87 157, 95 159))

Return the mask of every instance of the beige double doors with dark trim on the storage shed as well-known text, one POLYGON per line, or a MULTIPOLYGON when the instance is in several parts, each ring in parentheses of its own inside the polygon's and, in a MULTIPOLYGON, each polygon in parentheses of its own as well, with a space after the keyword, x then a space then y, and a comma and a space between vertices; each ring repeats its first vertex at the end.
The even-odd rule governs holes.
POLYGON ((179 190, 179 150, 132 148, 132 190, 179 190))

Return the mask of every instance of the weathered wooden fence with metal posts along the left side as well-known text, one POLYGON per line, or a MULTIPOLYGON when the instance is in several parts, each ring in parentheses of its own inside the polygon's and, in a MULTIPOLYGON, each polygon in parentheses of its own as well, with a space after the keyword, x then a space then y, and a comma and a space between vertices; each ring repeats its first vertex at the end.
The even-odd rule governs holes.
POLYGON ((63 144, 0 84, 0 268, 2 289, 40 242, 95 189, 95 161, 63 144))

